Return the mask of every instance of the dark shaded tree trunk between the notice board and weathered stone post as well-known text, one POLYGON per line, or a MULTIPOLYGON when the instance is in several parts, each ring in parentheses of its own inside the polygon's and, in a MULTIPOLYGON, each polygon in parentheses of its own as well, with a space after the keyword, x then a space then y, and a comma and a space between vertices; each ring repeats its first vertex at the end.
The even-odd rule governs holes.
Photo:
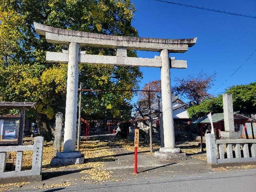
POLYGON ((50 142, 52 140, 52 130, 50 128, 50 121, 44 114, 36 114, 36 126, 39 130, 40 136, 44 140, 50 142))

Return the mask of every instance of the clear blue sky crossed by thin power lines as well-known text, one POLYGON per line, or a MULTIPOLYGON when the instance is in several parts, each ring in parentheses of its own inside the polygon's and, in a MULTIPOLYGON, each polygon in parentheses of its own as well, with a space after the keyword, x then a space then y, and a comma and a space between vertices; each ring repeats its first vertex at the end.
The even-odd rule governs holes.
MULTIPOLYGON (((256 81, 256 19, 210 12, 155 0, 132 0, 136 13, 132 25, 140 37, 194 38, 197 43, 185 53, 170 54, 187 60, 187 69, 172 69, 172 85, 176 77, 197 75, 200 72, 216 74, 211 94, 221 94, 230 86, 256 81), (223 85, 245 60, 254 55, 223 85), (220 86, 221 85, 221 86, 220 86), (216 90, 217 89, 217 90, 216 90)), ((255 0, 175 0, 184 4, 204 6, 216 10, 256 16, 255 0)), ((153 58, 158 52, 138 51, 138 57, 153 58)), ((141 68, 140 87, 160 79, 160 68, 141 68)), ((136 97, 134 98, 136 101, 136 97)))

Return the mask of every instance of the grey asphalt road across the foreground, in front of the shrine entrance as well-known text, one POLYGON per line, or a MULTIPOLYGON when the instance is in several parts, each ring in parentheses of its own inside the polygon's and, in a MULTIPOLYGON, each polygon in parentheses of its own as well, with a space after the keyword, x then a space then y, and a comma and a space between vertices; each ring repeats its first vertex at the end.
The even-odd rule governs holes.
MULTIPOLYGON (((39 191, 75 192, 256 192, 256 170, 240 170, 191 174, 189 176, 157 176, 103 184, 75 184, 67 188, 39 191)), ((19 190, 38 191, 38 190, 19 190)))

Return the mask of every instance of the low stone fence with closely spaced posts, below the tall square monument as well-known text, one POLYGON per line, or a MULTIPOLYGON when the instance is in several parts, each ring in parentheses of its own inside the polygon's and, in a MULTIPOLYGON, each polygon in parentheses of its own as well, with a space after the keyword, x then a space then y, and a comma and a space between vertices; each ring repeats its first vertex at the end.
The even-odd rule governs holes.
POLYGON ((205 140, 209 164, 256 162, 256 139, 215 140, 209 133, 205 140))

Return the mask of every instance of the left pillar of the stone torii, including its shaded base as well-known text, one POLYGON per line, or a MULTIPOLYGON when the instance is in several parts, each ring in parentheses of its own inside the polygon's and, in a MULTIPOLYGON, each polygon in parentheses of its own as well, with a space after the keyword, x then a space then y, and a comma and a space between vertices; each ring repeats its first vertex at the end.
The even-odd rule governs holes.
POLYGON ((77 92, 78 92, 78 62, 79 43, 70 42, 68 56, 68 79, 66 94, 66 113, 64 127, 63 152, 56 154, 51 166, 84 163, 84 155, 76 149, 76 120, 77 120, 77 92))

